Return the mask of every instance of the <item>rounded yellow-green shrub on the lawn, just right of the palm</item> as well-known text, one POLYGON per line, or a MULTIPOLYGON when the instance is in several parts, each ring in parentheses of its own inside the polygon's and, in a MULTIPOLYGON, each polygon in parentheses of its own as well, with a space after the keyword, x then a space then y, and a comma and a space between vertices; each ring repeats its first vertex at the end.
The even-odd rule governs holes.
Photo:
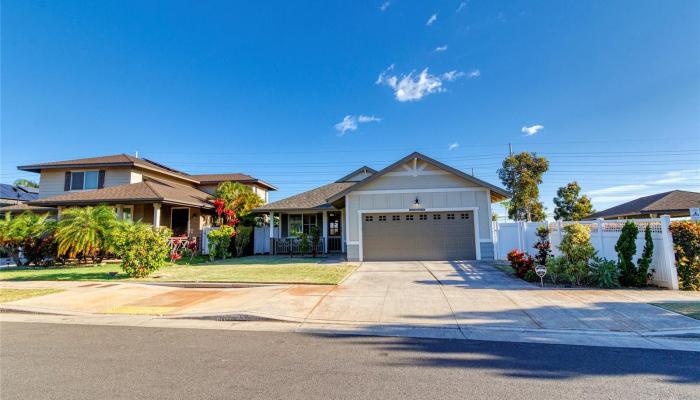
POLYGON ((163 265, 170 253, 167 228, 154 229, 141 222, 123 221, 115 225, 110 237, 115 254, 127 275, 143 278, 163 265))

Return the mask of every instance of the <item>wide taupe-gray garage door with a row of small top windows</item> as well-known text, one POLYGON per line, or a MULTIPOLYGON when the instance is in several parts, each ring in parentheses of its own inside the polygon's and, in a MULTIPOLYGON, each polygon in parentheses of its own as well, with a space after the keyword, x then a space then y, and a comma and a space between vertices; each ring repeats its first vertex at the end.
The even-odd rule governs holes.
POLYGON ((364 214, 363 260, 476 259, 473 219, 467 211, 364 214))

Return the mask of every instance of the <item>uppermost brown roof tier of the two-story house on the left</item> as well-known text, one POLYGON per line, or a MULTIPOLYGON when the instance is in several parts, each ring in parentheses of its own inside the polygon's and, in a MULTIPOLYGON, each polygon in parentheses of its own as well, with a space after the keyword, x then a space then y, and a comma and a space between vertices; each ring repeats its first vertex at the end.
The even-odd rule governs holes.
POLYGON ((111 156, 79 158, 75 160, 53 161, 48 163, 21 165, 17 169, 28 172, 41 172, 42 169, 57 168, 97 168, 97 167, 136 167, 175 176, 192 183, 199 183, 191 175, 170 168, 167 165, 157 163, 147 158, 138 158, 128 154, 114 154, 111 156))

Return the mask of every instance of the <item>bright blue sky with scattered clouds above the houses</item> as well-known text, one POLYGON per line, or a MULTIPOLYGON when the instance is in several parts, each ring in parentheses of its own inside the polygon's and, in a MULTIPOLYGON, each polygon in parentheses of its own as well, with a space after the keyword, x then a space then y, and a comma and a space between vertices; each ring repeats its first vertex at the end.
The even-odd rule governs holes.
POLYGON ((700 189, 697 1, 4 1, 2 182, 134 153, 272 199, 417 150, 598 209, 700 189))

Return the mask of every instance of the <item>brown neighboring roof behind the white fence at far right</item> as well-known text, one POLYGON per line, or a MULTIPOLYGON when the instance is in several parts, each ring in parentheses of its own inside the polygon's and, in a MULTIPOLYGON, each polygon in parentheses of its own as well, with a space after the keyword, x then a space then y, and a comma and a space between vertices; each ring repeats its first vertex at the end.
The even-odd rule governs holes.
POLYGON ((672 190, 628 201, 627 203, 591 214, 586 219, 679 212, 689 213, 690 208, 696 207, 700 207, 700 193, 672 190))

